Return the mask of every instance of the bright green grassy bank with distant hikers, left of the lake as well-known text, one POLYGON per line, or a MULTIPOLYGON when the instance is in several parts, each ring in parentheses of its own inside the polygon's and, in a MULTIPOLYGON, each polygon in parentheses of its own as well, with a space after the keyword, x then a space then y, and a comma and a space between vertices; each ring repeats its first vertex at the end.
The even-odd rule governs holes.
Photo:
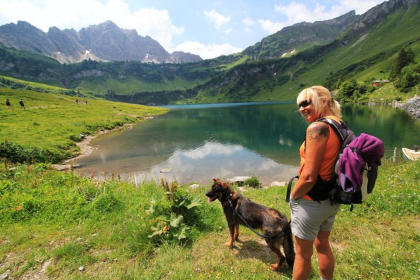
MULTIPOLYGON (((37 88, 43 86, 38 84, 37 88)), ((51 89, 46 86, 45 90, 51 89)), ((0 100, 1 151, 18 162, 58 162, 78 153, 76 142, 84 135, 166 112, 162 108, 26 89, 0 88, 0 100), (5 105, 7 98, 10 108, 5 105), (25 108, 19 105, 20 99, 25 108)))

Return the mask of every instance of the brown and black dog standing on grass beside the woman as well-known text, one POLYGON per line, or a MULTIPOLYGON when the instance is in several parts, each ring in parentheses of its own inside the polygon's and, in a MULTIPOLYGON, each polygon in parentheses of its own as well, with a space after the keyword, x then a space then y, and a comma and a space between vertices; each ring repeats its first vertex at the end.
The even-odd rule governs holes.
POLYGON ((293 267, 295 251, 290 224, 286 216, 276 209, 252 202, 233 191, 227 183, 221 182, 219 179, 213 180, 211 190, 206 193, 206 196, 209 202, 218 199, 222 204, 230 230, 230 241, 226 245, 232 248, 233 242, 238 240, 239 224, 253 229, 261 229, 262 237, 268 247, 278 256, 278 261, 272 264, 271 268, 277 270, 284 260, 290 267, 293 267), (286 256, 282 254, 281 247, 283 247, 286 256))

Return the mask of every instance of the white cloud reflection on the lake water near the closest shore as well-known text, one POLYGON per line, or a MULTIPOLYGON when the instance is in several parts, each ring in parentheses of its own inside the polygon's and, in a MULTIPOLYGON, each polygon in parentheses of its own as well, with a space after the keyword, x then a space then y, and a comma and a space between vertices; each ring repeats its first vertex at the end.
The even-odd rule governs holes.
POLYGON ((208 184, 212 178, 258 175, 260 181, 269 184, 296 172, 296 166, 277 163, 241 145, 206 142, 197 148, 176 150, 168 160, 150 170, 125 176, 135 181, 165 178, 208 184))

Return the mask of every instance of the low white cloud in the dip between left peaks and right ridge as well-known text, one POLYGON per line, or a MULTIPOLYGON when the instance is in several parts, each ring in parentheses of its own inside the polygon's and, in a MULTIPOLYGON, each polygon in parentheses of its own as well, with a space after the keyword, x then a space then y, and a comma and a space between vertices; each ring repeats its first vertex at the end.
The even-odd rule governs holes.
POLYGON ((180 45, 176 46, 175 50, 198 54, 203 59, 214 58, 221 55, 228 55, 242 51, 242 49, 227 43, 205 45, 203 43, 194 41, 186 41, 181 43, 180 45))

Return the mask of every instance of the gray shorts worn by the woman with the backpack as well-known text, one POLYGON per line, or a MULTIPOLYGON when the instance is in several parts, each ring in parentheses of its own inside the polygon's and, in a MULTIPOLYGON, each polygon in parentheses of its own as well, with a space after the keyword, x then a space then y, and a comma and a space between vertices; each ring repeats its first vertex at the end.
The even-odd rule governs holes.
POLYGON ((319 231, 330 231, 340 204, 329 200, 320 202, 290 198, 291 227, 295 236, 303 240, 315 240, 319 231))

